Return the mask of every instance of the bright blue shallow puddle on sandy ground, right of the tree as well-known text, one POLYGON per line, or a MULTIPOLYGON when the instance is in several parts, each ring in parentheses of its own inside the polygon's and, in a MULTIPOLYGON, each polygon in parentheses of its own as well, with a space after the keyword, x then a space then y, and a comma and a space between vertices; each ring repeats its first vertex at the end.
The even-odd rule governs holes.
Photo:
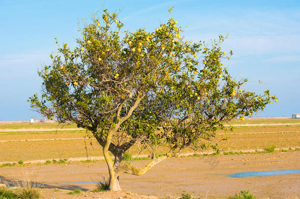
POLYGON ((300 173, 300 170, 276 170, 276 171, 254 171, 254 172, 241 172, 229 175, 230 177, 251 177, 251 176, 270 176, 270 175, 283 175, 300 173))

